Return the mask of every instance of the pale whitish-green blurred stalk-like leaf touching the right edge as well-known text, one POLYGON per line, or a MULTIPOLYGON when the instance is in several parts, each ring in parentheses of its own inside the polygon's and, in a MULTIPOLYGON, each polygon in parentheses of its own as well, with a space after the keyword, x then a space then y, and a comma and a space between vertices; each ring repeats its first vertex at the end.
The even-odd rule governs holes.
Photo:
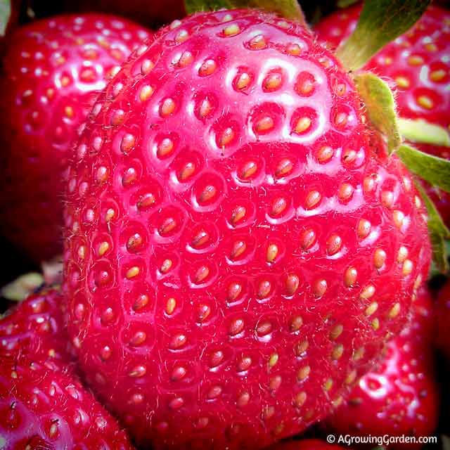
POLYGON ((428 143, 432 146, 450 147, 450 136, 444 127, 430 124, 423 119, 397 120, 401 136, 411 142, 428 143))

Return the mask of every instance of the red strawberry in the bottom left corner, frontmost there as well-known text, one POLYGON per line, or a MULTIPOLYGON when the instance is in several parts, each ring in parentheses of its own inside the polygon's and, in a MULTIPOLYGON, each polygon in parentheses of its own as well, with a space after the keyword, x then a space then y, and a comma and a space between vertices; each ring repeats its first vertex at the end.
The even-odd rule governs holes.
POLYGON ((73 375, 27 357, 0 361, 1 449, 132 449, 73 375))

